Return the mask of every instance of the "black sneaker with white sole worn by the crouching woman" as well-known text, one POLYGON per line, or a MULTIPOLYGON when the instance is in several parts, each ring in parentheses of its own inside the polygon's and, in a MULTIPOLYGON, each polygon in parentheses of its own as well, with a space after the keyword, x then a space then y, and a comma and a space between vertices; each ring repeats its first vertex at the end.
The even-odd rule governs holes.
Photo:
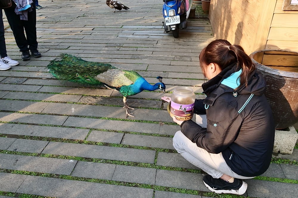
POLYGON ((211 177, 211 175, 205 175, 203 177, 203 182, 210 191, 218 194, 230 193, 241 195, 244 194, 247 189, 247 183, 237 178, 234 178, 233 183, 229 183, 220 178, 215 179, 211 177))

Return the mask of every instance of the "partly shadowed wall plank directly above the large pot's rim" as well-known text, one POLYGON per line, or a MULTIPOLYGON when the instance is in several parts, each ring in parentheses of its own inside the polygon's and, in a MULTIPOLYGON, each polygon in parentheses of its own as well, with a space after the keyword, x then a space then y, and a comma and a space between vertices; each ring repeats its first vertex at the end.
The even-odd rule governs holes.
POLYGON ((298 41, 268 40, 265 49, 298 52, 298 41))

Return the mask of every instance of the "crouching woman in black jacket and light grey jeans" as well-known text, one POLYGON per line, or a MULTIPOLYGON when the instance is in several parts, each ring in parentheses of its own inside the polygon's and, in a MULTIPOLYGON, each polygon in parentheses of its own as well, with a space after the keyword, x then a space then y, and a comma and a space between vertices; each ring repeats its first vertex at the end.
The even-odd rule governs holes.
POLYGON ((195 100, 201 122, 173 117, 181 126, 173 145, 208 173, 203 181, 209 190, 244 194, 247 184, 241 179, 263 174, 272 156, 274 121, 264 95, 266 82, 243 48, 226 40, 212 41, 199 58, 209 79, 202 84, 207 97, 195 100))

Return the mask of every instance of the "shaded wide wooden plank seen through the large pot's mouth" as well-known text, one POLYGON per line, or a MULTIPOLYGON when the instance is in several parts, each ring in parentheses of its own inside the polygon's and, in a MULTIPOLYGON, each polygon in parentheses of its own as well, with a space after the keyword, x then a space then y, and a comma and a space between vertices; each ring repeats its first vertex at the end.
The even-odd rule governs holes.
POLYGON ((274 66, 298 66, 298 55, 264 54, 262 64, 274 66))

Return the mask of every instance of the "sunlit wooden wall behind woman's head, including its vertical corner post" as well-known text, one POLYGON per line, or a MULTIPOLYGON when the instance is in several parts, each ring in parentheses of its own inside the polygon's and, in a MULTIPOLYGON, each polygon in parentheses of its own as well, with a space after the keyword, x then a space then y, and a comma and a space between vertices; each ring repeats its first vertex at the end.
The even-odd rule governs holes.
POLYGON ((276 1, 211 0, 209 18, 215 38, 241 45, 248 55, 265 49, 276 1))

